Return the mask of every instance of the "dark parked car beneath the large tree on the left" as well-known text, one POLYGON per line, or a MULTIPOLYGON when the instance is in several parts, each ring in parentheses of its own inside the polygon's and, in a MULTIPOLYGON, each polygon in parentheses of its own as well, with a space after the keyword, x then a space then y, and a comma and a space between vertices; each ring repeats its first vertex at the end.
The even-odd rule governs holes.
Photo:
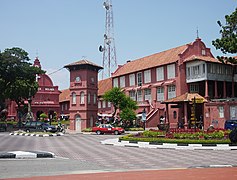
POLYGON ((24 126, 26 132, 57 132, 55 126, 40 121, 28 121, 24 126))

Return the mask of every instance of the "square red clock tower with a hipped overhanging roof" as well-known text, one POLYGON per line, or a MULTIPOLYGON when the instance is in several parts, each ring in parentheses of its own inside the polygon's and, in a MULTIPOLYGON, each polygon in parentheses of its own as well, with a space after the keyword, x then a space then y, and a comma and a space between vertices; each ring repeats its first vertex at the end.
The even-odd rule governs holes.
POLYGON ((70 129, 81 132, 95 124, 98 112, 98 72, 103 69, 88 60, 64 66, 70 72, 70 129))

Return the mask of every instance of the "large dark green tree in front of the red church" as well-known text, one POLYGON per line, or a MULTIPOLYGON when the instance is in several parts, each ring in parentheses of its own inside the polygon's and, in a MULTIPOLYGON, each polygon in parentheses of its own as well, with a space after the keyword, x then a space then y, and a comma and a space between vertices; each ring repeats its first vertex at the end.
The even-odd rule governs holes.
POLYGON ((28 53, 21 48, 5 49, 0 53, 0 102, 3 104, 6 99, 15 101, 18 112, 24 100, 37 92, 36 74, 44 73, 32 66, 29 60, 28 53))

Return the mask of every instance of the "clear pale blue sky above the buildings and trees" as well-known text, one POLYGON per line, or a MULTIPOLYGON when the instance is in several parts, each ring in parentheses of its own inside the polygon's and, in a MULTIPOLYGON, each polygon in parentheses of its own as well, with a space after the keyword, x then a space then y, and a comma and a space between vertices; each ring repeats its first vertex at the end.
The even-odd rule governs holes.
MULTIPOLYGON (((67 89, 65 65, 87 59, 102 66, 103 2, 0 0, 0 50, 20 47, 31 63, 38 56, 54 85, 67 89)), ((220 55, 212 45, 220 38, 217 21, 225 23, 237 0, 113 0, 112 5, 117 64, 125 64, 191 43, 197 29, 213 55, 220 55)))

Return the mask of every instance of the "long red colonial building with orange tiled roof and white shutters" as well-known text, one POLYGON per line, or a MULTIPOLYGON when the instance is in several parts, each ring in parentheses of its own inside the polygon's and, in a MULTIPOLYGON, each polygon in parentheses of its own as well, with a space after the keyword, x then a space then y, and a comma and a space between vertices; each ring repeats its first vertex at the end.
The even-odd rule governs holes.
MULTIPOLYGON (((112 87, 138 102, 138 116, 146 111, 146 127, 164 118, 170 127, 223 128, 226 119, 237 119, 236 67, 220 63, 200 38, 120 65, 99 82, 100 97, 112 87)), ((102 98, 98 107, 100 113, 111 113, 102 98)))

